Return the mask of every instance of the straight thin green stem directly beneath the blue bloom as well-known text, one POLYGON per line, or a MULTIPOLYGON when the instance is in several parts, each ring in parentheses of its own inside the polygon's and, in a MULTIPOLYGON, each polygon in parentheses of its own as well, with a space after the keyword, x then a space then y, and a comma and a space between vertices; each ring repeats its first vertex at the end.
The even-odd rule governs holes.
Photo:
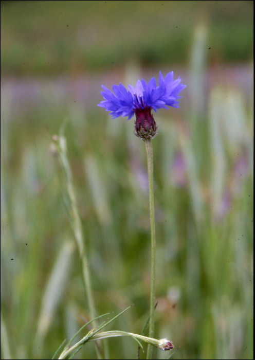
MULTIPOLYGON (((145 139, 147 165, 149 176, 150 219, 151 219, 151 306, 149 337, 154 337, 154 306, 155 306, 155 219, 154 219, 154 193, 153 193, 153 149, 151 139, 145 139)), ((152 358, 152 345, 148 346, 147 359, 152 358)))

